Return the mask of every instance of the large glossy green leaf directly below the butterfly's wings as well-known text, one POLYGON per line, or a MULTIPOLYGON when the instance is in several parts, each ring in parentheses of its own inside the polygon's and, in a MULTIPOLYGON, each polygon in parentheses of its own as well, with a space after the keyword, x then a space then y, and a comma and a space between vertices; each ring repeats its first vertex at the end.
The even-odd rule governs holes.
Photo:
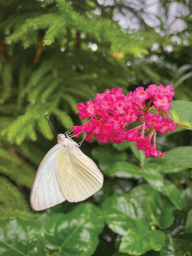
POLYGON ((91 255, 104 226, 101 210, 90 203, 79 204, 67 214, 55 214, 44 224, 47 247, 60 255, 91 255))

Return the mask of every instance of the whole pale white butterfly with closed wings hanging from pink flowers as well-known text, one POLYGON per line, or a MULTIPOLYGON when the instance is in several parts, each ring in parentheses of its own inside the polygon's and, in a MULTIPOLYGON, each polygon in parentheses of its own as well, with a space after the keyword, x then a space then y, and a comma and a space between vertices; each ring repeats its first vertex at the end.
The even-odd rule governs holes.
POLYGON ((68 200, 78 202, 103 186, 97 165, 68 135, 59 134, 58 144, 41 162, 31 189, 31 207, 38 211, 68 200))

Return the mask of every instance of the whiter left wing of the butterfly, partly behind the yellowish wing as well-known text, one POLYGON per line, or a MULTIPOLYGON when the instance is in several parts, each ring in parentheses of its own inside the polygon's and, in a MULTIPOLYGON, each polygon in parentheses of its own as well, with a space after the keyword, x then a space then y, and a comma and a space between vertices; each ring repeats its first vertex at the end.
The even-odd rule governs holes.
MULTIPOLYGON (((38 211, 60 204, 66 198, 62 194, 56 179, 56 159, 61 145, 57 144, 46 154, 42 160, 31 189, 31 207, 38 211)), ((65 154, 67 148, 62 147, 65 154)))

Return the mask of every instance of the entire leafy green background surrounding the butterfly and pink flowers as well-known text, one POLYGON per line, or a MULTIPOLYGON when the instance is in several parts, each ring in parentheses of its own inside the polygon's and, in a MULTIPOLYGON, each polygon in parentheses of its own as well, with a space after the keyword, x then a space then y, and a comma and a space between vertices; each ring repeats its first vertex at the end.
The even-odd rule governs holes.
POLYGON ((103 188, 41 212, 29 202, 57 142, 46 112, 64 133, 98 92, 173 83, 192 124, 191 17, 189 0, 0 0, 0 255, 192 255, 190 130, 157 135, 164 159, 83 142, 103 188))

